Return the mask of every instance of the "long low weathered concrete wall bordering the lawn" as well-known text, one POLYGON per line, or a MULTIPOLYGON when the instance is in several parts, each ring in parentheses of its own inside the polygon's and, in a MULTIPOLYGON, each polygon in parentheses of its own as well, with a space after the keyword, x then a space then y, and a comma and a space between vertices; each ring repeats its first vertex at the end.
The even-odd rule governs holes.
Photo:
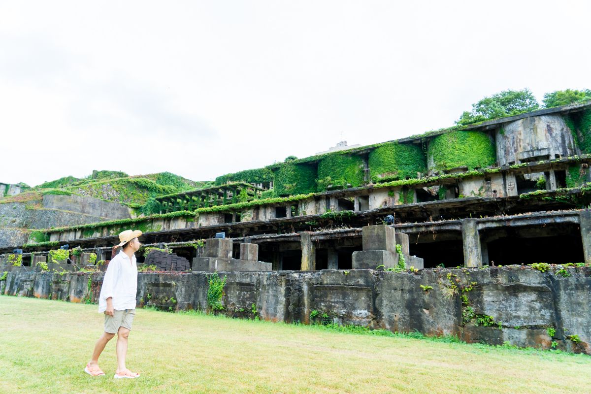
MULTIPOLYGON (((375 270, 315 272, 220 272, 227 276, 224 314, 310 323, 313 310, 339 324, 455 334, 469 342, 509 343, 591 354, 591 268, 569 268, 571 276, 524 266, 486 269, 433 269, 417 273, 375 270), (475 284, 473 284, 475 282, 475 284), (449 292, 454 284, 471 290, 449 292), (432 286, 424 290, 420 285, 432 286), (476 326, 462 312, 487 315, 494 322, 476 326), (554 337, 548 335, 554 328, 554 337), (567 336, 576 335, 580 341, 567 336)), ((140 273, 138 307, 207 310, 205 272, 140 273), (148 297, 148 294, 150 296, 148 297), (174 299, 174 301, 171 301, 174 299)), ((0 294, 96 301, 103 273, 8 272, 0 294), (90 276, 90 291, 89 291, 90 276)))

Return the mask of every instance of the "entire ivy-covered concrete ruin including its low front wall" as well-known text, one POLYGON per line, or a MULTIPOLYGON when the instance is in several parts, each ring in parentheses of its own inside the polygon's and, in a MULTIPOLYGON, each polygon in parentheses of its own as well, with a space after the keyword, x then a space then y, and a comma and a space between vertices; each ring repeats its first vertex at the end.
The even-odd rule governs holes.
MULTIPOLYGON (((24 268, 0 266, 8 272, 0 290, 53 297, 38 259, 67 244, 79 250, 70 255, 74 265, 83 265, 80 253, 108 261, 118 233, 135 228, 146 246, 190 262, 181 274, 141 273, 146 286, 163 285, 140 289, 138 305, 147 293, 164 299, 171 292, 175 308, 206 309, 205 278, 228 272, 229 314, 252 302, 269 320, 308 322, 317 310, 342 324, 589 353, 590 142, 591 104, 584 103, 222 175, 213 186, 155 197, 144 214, 61 201, 80 215, 106 220, 113 212, 109 219, 121 220, 80 219, 46 226, 41 238, 1 238, 5 256, 23 249, 24 268), (384 224, 387 215, 394 224, 384 224), (226 239, 214 239, 220 232, 226 239), (164 285, 167 275, 184 279, 174 279, 173 289, 164 285), (466 275, 479 278, 467 301, 453 288, 446 299, 446 281, 462 276, 457 283, 466 289, 466 275), (540 307, 528 310, 532 300, 540 307), (573 320, 564 323, 566 316, 573 320), (544 336, 549 328, 559 336, 544 336)), ((72 275, 57 297, 88 296, 72 275)), ((93 278, 99 286, 100 274, 93 278)))

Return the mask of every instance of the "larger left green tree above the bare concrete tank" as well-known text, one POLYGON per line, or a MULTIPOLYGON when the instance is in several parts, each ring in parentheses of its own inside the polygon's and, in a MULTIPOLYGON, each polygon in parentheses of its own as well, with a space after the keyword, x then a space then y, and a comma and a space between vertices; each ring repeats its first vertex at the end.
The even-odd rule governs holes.
POLYGON ((470 123, 488 121, 489 119, 531 112, 538 108, 540 108, 540 104, 538 104, 530 89, 503 90, 472 104, 472 111, 464 111, 456 123, 458 125, 469 125, 470 123))

